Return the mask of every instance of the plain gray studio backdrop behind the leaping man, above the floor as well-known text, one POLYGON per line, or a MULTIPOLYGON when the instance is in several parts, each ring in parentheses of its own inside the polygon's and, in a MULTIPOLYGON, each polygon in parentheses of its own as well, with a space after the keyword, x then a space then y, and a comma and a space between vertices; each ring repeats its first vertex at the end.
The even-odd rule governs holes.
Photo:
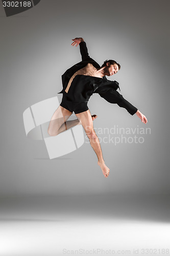
MULTIPOLYGON (((1 5, 2 6, 2 5, 1 5)), ((0 195, 169 194, 169 1, 48 0, 6 17, 1 7, 0 195), (101 65, 115 59, 110 80, 147 118, 99 95, 88 103, 94 127, 150 127, 144 143, 101 143, 110 175, 105 179, 89 143, 53 160, 44 141, 26 137, 23 112, 57 95, 61 75, 81 61, 71 38, 83 37, 101 65)))

